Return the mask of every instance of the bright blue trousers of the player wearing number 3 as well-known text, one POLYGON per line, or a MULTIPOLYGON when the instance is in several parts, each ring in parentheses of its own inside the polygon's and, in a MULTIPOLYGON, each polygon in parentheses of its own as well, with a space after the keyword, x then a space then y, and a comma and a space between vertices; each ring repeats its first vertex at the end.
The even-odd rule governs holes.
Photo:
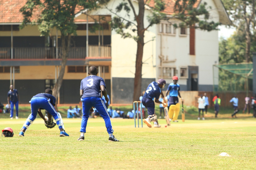
POLYGON ((86 126, 87 126, 90 110, 92 107, 95 107, 105 121, 107 132, 109 134, 113 133, 114 130, 112 129, 110 117, 109 117, 106 105, 104 103, 104 99, 99 97, 85 97, 85 98, 82 98, 81 101, 83 103, 83 116, 82 116, 80 132, 86 132, 86 126))

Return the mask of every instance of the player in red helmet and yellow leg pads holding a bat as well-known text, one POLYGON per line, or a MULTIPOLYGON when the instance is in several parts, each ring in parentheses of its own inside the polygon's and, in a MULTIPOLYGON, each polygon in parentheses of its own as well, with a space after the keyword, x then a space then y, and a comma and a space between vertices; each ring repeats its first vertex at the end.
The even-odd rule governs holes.
MULTIPOLYGON (((178 122, 178 116, 180 113, 180 103, 179 103, 179 97, 181 98, 180 94, 180 85, 177 84, 179 78, 178 76, 173 76, 172 77, 173 83, 170 83, 167 91, 166 91, 166 96, 169 95, 170 98, 168 100, 169 103, 169 118, 172 119, 173 122, 178 122)), ((182 101, 182 98, 181 98, 182 101)))

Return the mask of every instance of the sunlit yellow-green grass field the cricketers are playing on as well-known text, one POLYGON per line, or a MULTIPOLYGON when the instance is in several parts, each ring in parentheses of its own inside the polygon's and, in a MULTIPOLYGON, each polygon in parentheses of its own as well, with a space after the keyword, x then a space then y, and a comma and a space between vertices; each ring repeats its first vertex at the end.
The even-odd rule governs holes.
MULTIPOLYGON (((20 117, 27 117, 29 111, 23 112, 20 117)), ((187 113, 184 123, 167 128, 164 119, 161 128, 134 128, 133 119, 112 119, 120 142, 108 142, 100 117, 89 119, 85 141, 77 141, 81 119, 64 118, 70 137, 59 137, 58 128, 47 129, 38 116, 25 137, 18 137, 26 118, 3 117, 7 115, 0 115, 0 129, 11 127, 14 137, 0 138, 0 169, 255 169, 256 164, 251 114, 213 119, 208 113, 199 121, 196 113, 187 113), (219 157, 222 152, 230 157, 219 157)))

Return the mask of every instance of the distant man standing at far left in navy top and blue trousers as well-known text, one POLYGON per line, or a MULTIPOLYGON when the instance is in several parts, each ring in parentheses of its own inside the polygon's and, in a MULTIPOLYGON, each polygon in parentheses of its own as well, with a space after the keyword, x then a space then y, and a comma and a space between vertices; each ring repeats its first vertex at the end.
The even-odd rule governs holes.
POLYGON ((13 86, 10 86, 10 91, 7 94, 7 100, 8 100, 8 105, 9 107, 11 106, 11 119, 13 119, 13 110, 14 110, 14 105, 16 109, 16 119, 19 117, 19 104, 20 104, 20 96, 18 94, 18 91, 16 89, 13 89, 13 86))

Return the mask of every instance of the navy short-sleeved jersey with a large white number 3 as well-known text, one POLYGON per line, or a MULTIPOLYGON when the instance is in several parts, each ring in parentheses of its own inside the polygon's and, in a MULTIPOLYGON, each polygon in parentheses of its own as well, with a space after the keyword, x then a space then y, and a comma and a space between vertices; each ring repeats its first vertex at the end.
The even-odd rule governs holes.
POLYGON ((101 95, 100 95, 101 85, 104 85, 106 88, 103 78, 94 76, 94 75, 85 77, 84 79, 82 79, 81 86, 80 86, 80 90, 83 90, 83 95, 81 98, 82 99, 85 97, 101 98, 101 95))

